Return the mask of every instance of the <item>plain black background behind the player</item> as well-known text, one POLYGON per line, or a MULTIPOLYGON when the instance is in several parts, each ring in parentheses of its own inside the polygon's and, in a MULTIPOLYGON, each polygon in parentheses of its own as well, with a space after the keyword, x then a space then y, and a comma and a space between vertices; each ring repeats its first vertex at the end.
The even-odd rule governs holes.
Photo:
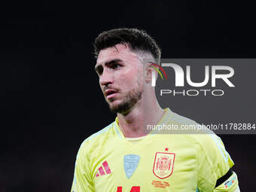
MULTIPOLYGON (((114 120, 93 71, 99 32, 145 29, 163 58, 256 56, 246 1, 2 2, 0 16, 0 191, 69 191, 81 142, 114 120)), ((256 136, 221 138, 252 190, 256 136)))

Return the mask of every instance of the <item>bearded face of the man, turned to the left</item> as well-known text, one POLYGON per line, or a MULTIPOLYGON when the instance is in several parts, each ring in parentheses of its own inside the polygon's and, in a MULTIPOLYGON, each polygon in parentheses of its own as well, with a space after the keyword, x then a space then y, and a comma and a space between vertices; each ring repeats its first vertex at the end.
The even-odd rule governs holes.
POLYGON ((126 114, 142 98, 143 65, 128 46, 101 50, 95 69, 111 111, 126 114))

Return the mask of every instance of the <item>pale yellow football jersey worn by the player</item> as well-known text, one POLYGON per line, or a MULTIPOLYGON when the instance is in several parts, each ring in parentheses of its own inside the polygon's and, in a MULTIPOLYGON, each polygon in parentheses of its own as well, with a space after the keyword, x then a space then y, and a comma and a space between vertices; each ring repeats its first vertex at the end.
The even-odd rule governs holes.
MULTIPOLYGON (((196 124, 169 108, 158 124, 164 123, 196 124)), ((221 139, 214 133, 160 134, 155 131, 141 138, 126 139, 116 118, 82 143, 71 191, 233 191, 238 185, 237 178, 230 178, 228 187, 221 185, 215 189, 218 178, 233 164, 221 139)))

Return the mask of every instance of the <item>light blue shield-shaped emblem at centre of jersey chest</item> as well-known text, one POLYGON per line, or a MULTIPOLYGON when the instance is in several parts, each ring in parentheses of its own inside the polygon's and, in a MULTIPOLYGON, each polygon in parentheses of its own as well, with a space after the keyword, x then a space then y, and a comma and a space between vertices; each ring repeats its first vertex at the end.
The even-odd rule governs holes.
POLYGON ((139 164, 140 157, 136 154, 127 154, 123 158, 123 167, 126 173, 126 177, 130 178, 135 172, 138 164, 139 164))

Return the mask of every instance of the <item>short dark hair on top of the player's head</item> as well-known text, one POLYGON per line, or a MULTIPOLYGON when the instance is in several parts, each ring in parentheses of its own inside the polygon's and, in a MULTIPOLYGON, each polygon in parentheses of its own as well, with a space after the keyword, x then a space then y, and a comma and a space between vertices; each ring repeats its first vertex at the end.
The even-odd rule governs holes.
POLYGON ((136 28, 111 29, 99 34, 94 42, 94 55, 97 58, 99 51, 108 47, 114 47, 116 44, 127 44, 130 50, 144 51, 151 53, 154 59, 159 60, 161 56, 160 47, 157 42, 148 35, 145 30, 136 28))

